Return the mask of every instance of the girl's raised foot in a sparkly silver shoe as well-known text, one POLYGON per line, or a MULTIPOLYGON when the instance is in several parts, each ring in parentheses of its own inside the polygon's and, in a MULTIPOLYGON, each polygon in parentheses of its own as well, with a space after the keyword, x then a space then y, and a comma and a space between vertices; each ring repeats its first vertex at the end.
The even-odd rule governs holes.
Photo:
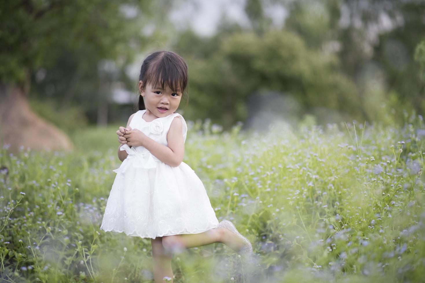
POLYGON ((218 229, 223 229, 224 237, 222 243, 233 249, 239 255, 252 253, 252 245, 247 238, 238 232, 232 222, 224 219, 218 224, 218 229))

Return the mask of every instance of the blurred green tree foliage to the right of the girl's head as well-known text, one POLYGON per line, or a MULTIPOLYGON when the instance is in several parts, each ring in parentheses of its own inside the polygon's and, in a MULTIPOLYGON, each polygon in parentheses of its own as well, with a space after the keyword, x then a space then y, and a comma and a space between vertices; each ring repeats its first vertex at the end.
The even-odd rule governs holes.
POLYGON ((421 1, 247 0, 245 12, 250 28, 224 21, 209 39, 181 35, 176 46, 192 69, 190 116, 245 120, 246 98, 259 90, 360 120, 391 107, 425 111, 413 58, 425 30, 421 1), (289 12, 281 28, 264 12, 270 5, 289 12))

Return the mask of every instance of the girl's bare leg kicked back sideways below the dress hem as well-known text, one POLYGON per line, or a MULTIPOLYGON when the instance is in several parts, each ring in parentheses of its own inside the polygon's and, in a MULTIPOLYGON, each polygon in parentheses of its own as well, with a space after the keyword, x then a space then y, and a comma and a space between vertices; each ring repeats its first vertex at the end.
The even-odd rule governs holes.
POLYGON ((235 251, 240 250, 244 244, 238 235, 226 228, 213 228, 198 234, 180 234, 162 237, 162 245, 167 252, 181 252, 184 249, 212 243, 223 243, 235 251))

